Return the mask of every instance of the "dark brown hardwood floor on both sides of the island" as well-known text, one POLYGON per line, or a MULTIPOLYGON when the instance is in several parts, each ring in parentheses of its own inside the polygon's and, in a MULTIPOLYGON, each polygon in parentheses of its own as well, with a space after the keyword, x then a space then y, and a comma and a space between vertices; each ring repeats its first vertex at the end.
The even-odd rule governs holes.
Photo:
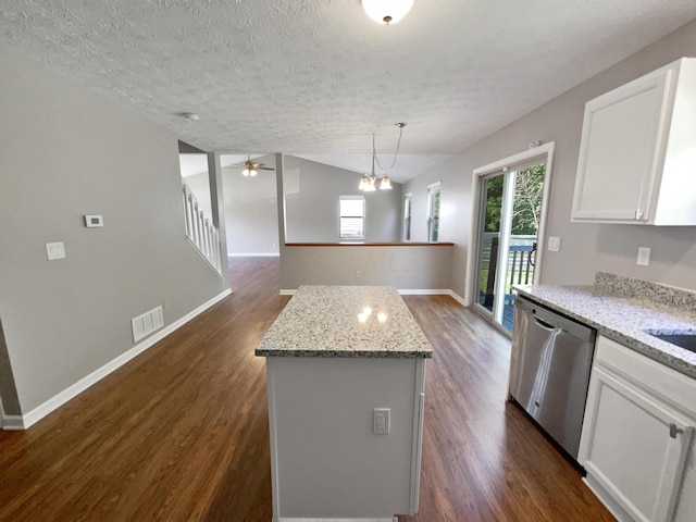
MULTIPOLYGON (((0 431, 1 521, 265 521, 264 360, 288 298, 276 258, 232 260, 233 295, 26 432, 0 431)), ((421 507, 403 522, 613 520, 505 402, 509 341, 448 297, 407 297, 435 349, 421 507)))

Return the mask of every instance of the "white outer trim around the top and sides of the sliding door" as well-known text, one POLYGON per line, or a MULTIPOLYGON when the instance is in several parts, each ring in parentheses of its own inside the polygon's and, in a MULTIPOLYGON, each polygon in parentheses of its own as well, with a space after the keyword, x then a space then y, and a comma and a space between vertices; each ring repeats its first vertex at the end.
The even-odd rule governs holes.
POLYGON ((474 288, 476 278, 476 249, 473 248, 478 245, 480 233, 480 220, 481 220, 481 179, 487 174, 504 170, 508 165, 514 165, 519 163, 530 162, 535 159, 545 160, 546 170, 544 177, 544 195, 542 197, 542 215, 539 216, 539 229, 537 231, 537 250, 535 253, 535 270, 534 270, 534 284, 538 284, 542 273, 542 265, 544 262, 544 245, 546 238, 546 216, 548 215, 548 199, 551 190, 551 172, 554 169, 554 151, 556 150, 556 141, 540 145, 533 149, 525 150, 523 152, 510 156, 502 160, 488 163, 487 165, 480 166, 473 171, 472 176, 472 206, 471 206, 471 234, 470 234, 470 248, 467 252, 467 281, 464 282, 464 303, 467 307, 471 307, 474 303, 474 288))

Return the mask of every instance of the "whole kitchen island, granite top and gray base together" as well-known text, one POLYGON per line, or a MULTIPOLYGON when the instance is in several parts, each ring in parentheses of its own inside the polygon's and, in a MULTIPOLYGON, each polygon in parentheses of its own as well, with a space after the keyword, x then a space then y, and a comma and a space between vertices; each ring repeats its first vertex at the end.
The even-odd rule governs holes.
POLYGON ((273 520, 418 510, 425 359, 396 289, 301 286, 265 333, 273 520))

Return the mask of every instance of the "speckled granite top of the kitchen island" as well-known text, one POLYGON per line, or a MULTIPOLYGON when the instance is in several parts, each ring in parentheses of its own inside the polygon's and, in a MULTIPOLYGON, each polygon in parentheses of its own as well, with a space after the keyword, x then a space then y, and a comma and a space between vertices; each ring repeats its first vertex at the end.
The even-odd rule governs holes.
POLYGON ((431 358, 401 296, 386 286, 300 286, 256 349, 260 357, 431 358))

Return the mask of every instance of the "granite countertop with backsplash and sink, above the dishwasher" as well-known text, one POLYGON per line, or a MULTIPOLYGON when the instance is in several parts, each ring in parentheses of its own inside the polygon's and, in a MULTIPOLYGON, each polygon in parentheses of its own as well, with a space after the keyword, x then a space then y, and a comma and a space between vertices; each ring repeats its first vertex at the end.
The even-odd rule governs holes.
POLYGON ((694 291, 602 272, 594 286, 519 285, 514 289, 696 378, 696 353, 645 332, 696 332, 694 291))

